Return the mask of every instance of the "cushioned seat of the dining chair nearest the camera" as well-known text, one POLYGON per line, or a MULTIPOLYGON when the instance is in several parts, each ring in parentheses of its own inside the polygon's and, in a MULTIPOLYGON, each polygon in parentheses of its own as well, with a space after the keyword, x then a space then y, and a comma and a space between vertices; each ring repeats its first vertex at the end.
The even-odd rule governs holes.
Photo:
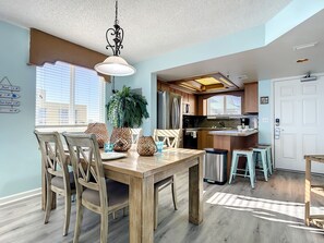
MULTIPOLYGON (((113 180, 106 180, 106 189, 108 195, 108 206, 127 203, 129 199, 129 186, 113 180)), ((82 193, 82 198, 89 203, 100 206, 99 192, 91 189, 85 189, 82 193)))

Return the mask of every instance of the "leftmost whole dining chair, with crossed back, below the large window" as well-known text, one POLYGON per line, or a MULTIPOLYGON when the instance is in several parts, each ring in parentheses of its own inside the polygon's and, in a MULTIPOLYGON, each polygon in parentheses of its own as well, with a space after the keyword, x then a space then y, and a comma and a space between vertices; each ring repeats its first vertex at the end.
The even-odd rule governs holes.
POLYGON ((73 172, 68 169, 68 156, 64 153, 62 141, 58 132, 39 132, 35 130, 41 151, 41 165, 46 178, 46 208, 44 222, 48 223, 52 193, 64 196, 64 226, 63 235, 68 234, 71 217, 71 195, 75 194, 73 172))

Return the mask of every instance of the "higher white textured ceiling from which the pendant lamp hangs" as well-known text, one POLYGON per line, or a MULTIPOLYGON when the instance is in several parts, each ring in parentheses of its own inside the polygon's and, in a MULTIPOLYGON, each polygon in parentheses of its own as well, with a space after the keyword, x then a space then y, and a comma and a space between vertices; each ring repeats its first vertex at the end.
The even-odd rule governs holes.
MULTIPOLYGON (((261 25, 290 0, 119 0, 121 56, 136 63, 261 25)), ((34 27, 105 54, 113 0, 1 0, 0 20, 34 27)))

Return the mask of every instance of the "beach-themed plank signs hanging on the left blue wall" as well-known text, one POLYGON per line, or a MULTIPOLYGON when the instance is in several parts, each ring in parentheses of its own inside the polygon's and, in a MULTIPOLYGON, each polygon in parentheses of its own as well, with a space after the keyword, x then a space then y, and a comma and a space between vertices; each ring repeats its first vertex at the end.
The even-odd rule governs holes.
POLYGON ((17 100, 21 96, 20 86, 12 85, 7 76, 0 81, 0 113, 17 113, 17 107, 21 102, 17 100))

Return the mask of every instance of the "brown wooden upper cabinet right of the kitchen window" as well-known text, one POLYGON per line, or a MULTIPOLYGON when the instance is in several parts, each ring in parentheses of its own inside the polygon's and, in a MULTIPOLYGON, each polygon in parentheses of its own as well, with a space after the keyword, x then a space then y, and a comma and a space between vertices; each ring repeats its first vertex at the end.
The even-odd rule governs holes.
POLYGON ((257 112, 257 82, 244 84, 244 113, 257 112))

